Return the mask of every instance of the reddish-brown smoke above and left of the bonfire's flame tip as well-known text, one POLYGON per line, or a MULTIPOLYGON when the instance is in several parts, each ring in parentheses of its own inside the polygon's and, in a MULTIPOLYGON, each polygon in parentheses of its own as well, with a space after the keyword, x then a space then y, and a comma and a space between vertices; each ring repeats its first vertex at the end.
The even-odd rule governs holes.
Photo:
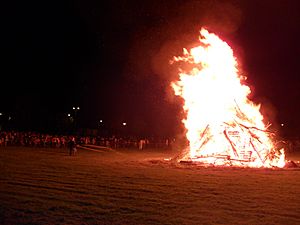
POLYGON ((126 74, 137 82, 154 76, 165 87, 165 97, 173 101, 170 83, 178 76, 178 65, 170 64, 173 57, 198 44, 201 27, 221 36, 234 35, 242 22, 242 11, 235 1, 188 1, 175 9, 173 5, 168 13, 157 10, 154 14, 163 22, 143 26, 135 33, 126 74))

